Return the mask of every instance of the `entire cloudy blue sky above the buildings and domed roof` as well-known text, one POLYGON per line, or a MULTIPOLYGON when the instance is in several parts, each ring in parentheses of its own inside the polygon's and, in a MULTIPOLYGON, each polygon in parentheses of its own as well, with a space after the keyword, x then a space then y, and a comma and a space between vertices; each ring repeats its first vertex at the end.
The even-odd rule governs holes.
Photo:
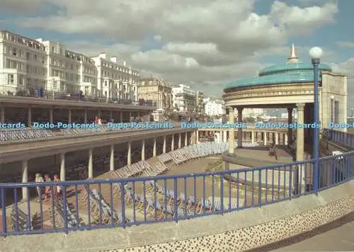
POLYGON ((220 96, 285 63, 292 43, 302 62, 319 46, 321 62, 354 76, 353 9, 353 0, 1 0, 0 29, 107 52, 142 76, 220 96))

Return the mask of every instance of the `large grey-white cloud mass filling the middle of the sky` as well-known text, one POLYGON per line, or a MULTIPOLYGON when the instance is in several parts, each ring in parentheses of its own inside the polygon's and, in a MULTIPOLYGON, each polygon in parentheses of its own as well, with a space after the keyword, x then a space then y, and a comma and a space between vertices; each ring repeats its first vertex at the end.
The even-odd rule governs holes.
POLYGON ((219 93, 229 81, 256 75, 265 67, 258 63, 264 56, 287 57, 291 36, 333 23, 338 12, 331 3, 300 8, 275 1, 268 14, 260 15, 254 11, 255 0, 47 1, 57 6, 57 13, 24 16, 16 23, 100 38, 65 44, 90 56, 103 50, 118 54, 143 74, 193 88, 207 85, 210 93, 219 93))

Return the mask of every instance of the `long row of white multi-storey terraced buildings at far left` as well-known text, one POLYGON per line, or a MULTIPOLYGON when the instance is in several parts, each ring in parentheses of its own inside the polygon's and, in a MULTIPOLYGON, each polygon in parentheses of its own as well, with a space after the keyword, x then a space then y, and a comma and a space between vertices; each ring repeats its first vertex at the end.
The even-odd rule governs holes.
MULTIPOLYGON (((0 92, 15 96, 39 88, 62 94, 137 101, 139 71, 117 57, 88 57, 59 42, 0 31, 0 92)), ((47 93, 48 94, 48 93, 47 93)), ((33 96, 33 94, 30 94, 33 96)))

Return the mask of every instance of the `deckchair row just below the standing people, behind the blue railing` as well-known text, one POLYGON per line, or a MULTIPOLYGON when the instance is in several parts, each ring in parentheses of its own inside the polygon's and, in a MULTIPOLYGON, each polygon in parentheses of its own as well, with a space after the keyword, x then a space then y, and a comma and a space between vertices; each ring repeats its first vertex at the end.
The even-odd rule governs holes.
MULTIPOLYGON (((72 210, 70 210, 69 204, 66 202, 64 204, 64 200, 59 199, 54 201, 54 209, 52 206, 49 209, 50 216, 55 216, 55 223, 52 223, 53 227, 64 228, 65 223, 67 222, 67 227, 79 227, 79 219, 75 217, 72 210), (64 207, 66 208, 67 216, 64 214, 64 207)), ((50 218, 53 222, 53 219, 50 218)))

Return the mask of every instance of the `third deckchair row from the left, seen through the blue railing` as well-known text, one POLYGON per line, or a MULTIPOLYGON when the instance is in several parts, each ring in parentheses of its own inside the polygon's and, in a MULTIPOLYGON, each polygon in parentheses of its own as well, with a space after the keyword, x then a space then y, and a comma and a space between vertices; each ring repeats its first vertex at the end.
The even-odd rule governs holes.
POLYGON ((118 224, 120 222, 120 214, 113 210, 103 199, 96 189, 85 187, 84 197, 81 198, 85 205, 90 202, 91 214, 96 222, 100 224, 118 224))

